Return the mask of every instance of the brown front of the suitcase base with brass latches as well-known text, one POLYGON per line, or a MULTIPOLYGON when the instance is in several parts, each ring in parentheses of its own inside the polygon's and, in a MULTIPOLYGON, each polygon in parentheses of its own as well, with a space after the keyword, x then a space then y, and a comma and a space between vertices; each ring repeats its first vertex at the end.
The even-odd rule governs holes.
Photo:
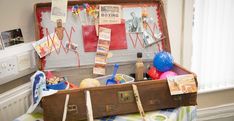
MULTIPOLYGON (((181 75, 191 74, 177 64, 175 64, 173 71, 181 75)), ((196 93, 171 96, 166 80, 141 81, 135 84, 138 87, 144 111, 197 104, 196 93)), ((138 112, 131 84, 123 84, 59 91, 54 95, 44 97, 41 103, 44 110, 44 120, 57 121, 62 119, 66 94, 70 94, 67 121, 87 119, 85 90, 90 91, 95 118, 138 112), (121 93, 128 96, 120 97, 121 93)))

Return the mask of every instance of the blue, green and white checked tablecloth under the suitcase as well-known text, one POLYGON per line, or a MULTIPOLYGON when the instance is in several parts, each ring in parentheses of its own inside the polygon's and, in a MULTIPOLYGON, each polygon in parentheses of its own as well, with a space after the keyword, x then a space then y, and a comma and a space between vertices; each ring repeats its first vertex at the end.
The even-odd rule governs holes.
MULTIPOLYGON (((186 106, 176 109, 165 109, 146 113, 148 121, 196 121, 196 106, 186 106)), ((14 121, 43 121, 42 114, 24 114, 14 121)), ((110 116, 95 121, 142 121, 139 114, 110 116)))

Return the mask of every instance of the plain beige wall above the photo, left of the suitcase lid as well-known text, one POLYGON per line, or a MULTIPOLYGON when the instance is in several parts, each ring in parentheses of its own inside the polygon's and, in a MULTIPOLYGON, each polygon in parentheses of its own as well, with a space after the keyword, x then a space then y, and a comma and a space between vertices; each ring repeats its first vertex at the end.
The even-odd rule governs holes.
POLYGON ((25 41, 33 41, 33 5, 46 1, 51 0, 0 0, 0 32, 21 28, 25 41))

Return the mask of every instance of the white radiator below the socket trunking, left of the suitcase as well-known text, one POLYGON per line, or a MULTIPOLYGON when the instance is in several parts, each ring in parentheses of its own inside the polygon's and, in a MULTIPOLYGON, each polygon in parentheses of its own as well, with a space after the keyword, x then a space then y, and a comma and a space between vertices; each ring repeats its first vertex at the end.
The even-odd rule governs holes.
POLYGON ((12 121, 24 114, 31 102, 31 83, 0 94, 0 121, 12 121))

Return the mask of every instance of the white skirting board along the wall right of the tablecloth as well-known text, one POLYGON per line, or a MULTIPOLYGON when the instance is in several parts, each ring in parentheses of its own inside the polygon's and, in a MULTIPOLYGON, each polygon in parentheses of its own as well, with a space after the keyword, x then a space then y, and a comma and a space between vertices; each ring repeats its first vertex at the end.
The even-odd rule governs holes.
POLYGON ((198 121, 212 121, 234 117, 234 103, 197 110, 198 121))

